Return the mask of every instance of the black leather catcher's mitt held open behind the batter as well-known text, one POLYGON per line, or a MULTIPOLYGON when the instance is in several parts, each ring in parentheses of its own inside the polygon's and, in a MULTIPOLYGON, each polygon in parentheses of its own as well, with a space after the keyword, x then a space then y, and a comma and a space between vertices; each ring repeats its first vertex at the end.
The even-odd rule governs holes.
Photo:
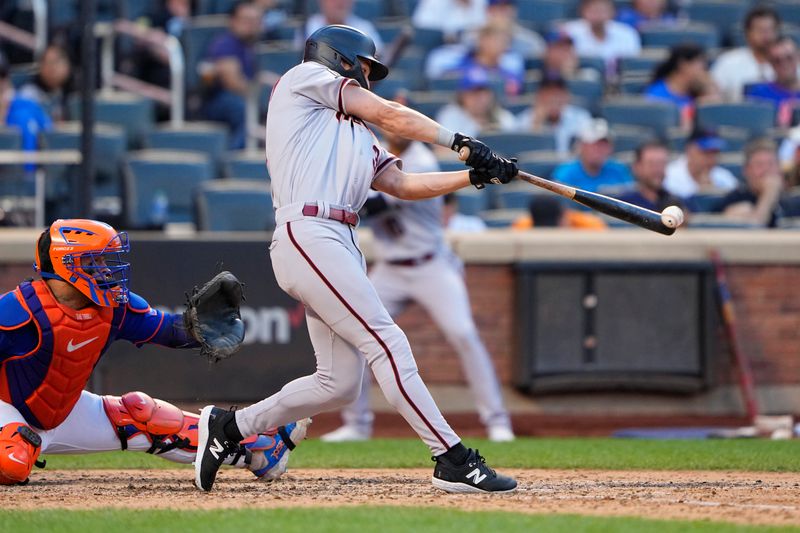
POLYGON ((200 353, 211 362, 227 359, 244 341, 244 322, 239 304, 244 299, 242 283, 227 270, 201 288, 186 295, 183 322, 200 343, 200 353))

